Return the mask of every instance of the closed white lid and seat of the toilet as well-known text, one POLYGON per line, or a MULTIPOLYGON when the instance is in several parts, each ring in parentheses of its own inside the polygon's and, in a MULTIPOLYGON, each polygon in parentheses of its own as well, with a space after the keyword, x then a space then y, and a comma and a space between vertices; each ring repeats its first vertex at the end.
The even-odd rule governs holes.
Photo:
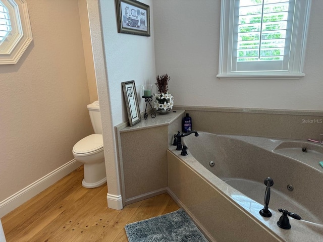
POLYGON ((103 138, 101 134, 86 136, 73 147, 73 153, 79 156, 101 152, 103 150, 103 138))

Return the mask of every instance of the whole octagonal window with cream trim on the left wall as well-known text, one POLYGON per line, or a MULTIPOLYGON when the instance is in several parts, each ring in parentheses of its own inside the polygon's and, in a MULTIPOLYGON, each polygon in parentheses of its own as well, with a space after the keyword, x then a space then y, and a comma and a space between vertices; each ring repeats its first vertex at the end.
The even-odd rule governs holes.
POLYGON ((24 0, 0 0, 0 65, 16 64, 32 41, 24 0))

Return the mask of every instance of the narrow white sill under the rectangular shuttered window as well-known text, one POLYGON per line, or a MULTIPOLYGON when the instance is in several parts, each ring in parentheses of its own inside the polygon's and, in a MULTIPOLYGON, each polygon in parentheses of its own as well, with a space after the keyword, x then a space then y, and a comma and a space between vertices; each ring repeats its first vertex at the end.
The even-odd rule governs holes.
POLYGON ((281 80, 281 79, 300 79, 304 77, 304 73, 295 74, 218 74, 217 78, 220 80, 259 80, 259 79, 271 79, 271 80, 281 80))

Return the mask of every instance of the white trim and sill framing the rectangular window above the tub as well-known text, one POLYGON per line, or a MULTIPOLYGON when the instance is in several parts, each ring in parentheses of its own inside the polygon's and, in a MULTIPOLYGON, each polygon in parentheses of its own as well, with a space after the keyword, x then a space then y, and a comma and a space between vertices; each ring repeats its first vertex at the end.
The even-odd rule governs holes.
MULTIPOLYGON (((303 73, 307 30, 311 0, 295 0, 295 19, 293 27, 294 38, 290 52, 290 65, 288 71, 267 72, 232 72, 232 31, 234 6, 237 0, 222 0, 221 2, 221 27, 220 27, 220 51, 219 74, 220 79, 299 79, 303 73), (231 35, 230 35, 231 34, 231 35), (231 41, 231 42, 230 42, 231 41)), ((242 0, 243 1, 243 0, 242 0)))

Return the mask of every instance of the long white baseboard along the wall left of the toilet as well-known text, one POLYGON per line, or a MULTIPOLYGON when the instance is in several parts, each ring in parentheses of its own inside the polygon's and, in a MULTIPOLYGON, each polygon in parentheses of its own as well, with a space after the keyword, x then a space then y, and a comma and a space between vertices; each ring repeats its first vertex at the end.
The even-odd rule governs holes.
POLYGON ((20 190, 18 193, 3 200, 2 202, 0 202, 0 218, 5 216, 15 208, 19 207, 23 203, 27 202, 29 199, 36 196, 38 193, 42 192, 49 186, 53 185, 58 180, 62 179, 64 176, 68 175, 81 165, 82 163, 73 159, 57 168, 56 170, 53 170, 49 174, 43 176, 39 180, 36 180, 34 183, 20 190))

